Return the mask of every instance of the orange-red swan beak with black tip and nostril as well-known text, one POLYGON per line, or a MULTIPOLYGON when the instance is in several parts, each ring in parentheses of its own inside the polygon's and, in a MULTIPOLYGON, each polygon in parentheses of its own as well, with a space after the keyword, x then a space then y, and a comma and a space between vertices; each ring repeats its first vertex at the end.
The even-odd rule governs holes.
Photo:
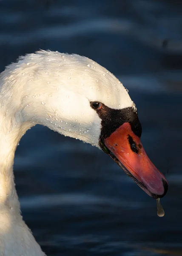
POLYGON ((104 141, 110 156, 148 195, 162 198, 168 191, 164 175, 148 158, 140 139, 125 122, 104 141))

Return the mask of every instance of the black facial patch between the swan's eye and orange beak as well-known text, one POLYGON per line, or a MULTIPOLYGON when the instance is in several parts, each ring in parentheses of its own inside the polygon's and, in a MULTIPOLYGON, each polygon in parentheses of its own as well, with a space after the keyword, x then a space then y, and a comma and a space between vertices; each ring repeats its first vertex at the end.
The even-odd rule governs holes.
POLYGON ((109 137, 117 128, 128 122, 131 129, 139 138, 142 135, 142 126, 138 119, 137 111, 132 107, 113 109, 102 103, 101 109, 95 110, 99 115, 102 125, 100 139, 109 137))

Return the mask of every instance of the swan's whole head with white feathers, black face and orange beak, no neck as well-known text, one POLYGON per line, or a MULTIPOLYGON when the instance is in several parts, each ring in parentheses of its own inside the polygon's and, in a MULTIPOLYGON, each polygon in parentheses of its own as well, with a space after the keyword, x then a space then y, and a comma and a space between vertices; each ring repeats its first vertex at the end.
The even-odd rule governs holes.
POLYGON ((1 78, 1 102, 16 123, 28 128, 46 125, 91 143, 112 157, 148 195, 166 194, 167 180, 140 142, 142 127, 134 102, 104 67, 80 55, 39 51, 8 66, 1 78))

